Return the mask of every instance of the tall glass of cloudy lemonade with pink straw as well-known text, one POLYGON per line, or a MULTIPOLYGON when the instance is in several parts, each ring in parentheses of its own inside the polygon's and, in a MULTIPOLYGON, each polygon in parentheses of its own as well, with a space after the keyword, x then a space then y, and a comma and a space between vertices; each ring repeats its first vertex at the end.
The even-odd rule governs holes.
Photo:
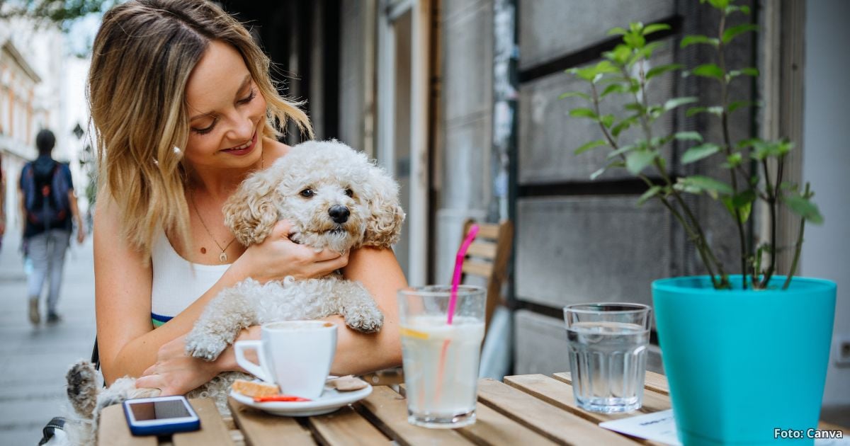
POLYGON ((450 285, 399 291, 407 421, 455 428, 475 422, 484 288, 460 285, 451 324, 450 285))

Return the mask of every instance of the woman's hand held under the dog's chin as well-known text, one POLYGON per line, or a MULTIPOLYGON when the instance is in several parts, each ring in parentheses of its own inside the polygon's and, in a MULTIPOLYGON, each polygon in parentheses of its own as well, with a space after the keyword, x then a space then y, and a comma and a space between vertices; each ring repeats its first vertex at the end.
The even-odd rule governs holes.
POLYGON ((348 265, 348 251, 316 252, 313 248, 297 245, 289 240, 292 224, 281 220, 263 243, 249 246, 236 260, 247 277, 261 283, 292 276, 295 279, 312 279, 331 274, 348 265))

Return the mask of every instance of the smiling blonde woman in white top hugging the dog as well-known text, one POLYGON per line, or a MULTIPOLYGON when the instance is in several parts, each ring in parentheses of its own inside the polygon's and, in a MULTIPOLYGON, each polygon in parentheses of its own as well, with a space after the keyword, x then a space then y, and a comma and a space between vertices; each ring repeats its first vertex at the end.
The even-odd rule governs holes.
MULTIPOLYGON (((312 134, 307 116, 276 92, 269 59, 241 24, 201 0, 116 6, 94 42, 88 97, 100 166, 94 270, 107 383, 139 376, 138 387, 180 394, 241 370, 232 347, 211 363, 184 354, 207 302, 247 277, 339 268, 371 291, 385 325, 363 335, 329 318, 339 327, 331 373, 400 364, 394 299, 405 279, 392 251, 314 252, 287 239, 285 221, 246 248, 224 227, 221 207, 237 185, 289 150, 278 129, 292 119, 312 134)), ((239 337, 258 338, 257 326, 239 337)))

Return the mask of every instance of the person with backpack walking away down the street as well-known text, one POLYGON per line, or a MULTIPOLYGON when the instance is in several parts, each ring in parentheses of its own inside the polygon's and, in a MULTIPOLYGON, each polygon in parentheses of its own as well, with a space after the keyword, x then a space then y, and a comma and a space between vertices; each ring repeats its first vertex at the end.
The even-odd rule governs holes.
POLYGON ((50 283, 47 322, 55 324, 60 320, 56 304, 62 285, 65 251, 71 239, 71 217, 77 223, 77 241, 82 243, 86 236, 71 183, 71 170, 50 155, 55 144, 53 132, 40 131, 36 136, 38 158, 26 163, 20 172, 18 196, 21 215, 26 216, 24 242, 32 261, 27 290, 33 325, 41 321, 38 302, 45 279, 50 283))

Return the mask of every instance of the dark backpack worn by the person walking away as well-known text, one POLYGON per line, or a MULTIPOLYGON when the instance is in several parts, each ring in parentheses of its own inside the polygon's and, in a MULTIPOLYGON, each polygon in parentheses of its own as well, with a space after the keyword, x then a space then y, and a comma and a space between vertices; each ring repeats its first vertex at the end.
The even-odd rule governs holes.
POLYGON ((36 164, 35 161, 26 163, 21 172, 20 184, 28 222, 43 224, 44 229, 51 229, 68 217, 71 184, 68 183, 63 167, 65 165, 57 161, 53 161, 52 166, 36 164))

